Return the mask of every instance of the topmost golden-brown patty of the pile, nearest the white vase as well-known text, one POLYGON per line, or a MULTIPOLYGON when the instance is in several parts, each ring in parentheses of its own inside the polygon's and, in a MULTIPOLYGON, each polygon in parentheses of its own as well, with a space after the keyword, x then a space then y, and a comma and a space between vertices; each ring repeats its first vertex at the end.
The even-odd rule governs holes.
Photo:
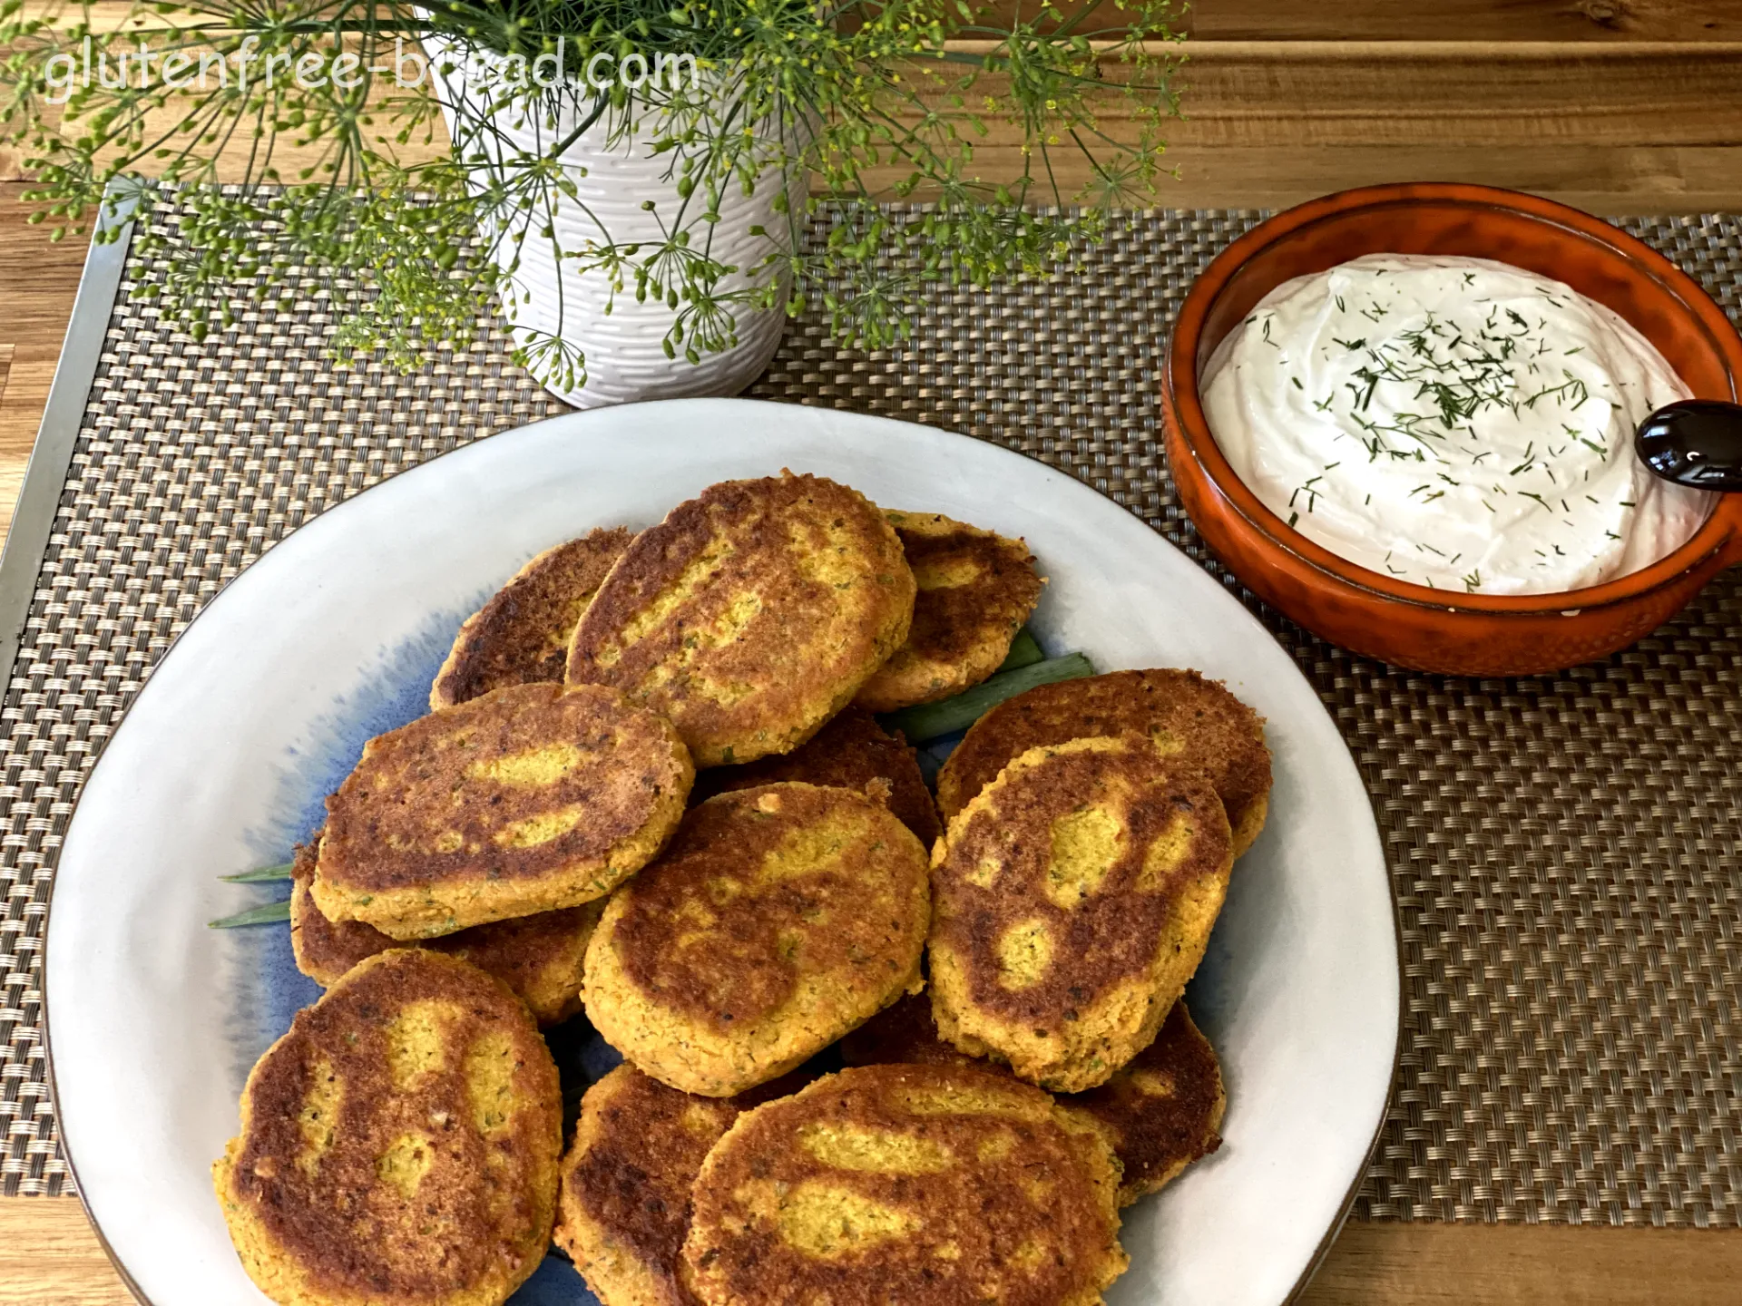
POLYGON ((726 481, 629 545, 575 629, 568 679, 664 712, 697 766, 787 752, 908 637, 913 590, 859 491, 726 481))

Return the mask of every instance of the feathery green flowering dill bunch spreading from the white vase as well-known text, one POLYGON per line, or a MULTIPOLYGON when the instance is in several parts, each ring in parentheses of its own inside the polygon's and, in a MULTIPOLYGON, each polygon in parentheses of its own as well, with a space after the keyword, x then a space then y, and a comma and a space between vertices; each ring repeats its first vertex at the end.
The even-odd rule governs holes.
MULTIPOLYGON (((1179 113, 1178 56, 1167 45, 1181 9, 1171 0, 1089 0, 1068 17, 1052 5, 993 16, 948 0, 138 9, 155 14, 143 33, 87 33, 0 2, 0 141, 23 151, 37 176, 26 200, 52 219, 51 233, 80 232, 118 172, 150 172, 148 181, 132 178, 134 240, 176 256, 152 291, 165 319, 206 338, 232 326, 247 303, 287 294, 298 270, 308 270, 321 275, 341 324, 334 357, 373 352, 399 369, 472 338, 509 289, 512 270, 496 263, 512 261, 523 242, 547 244, 566 266, 608 279, 625 296, 667 300, 674 357, 728 348, 735 310, 746 305, 794 313, 820 306, 836 343, 885 348, 908 334, 930 286, 988 286, 1068 266, 1104 239, 1108 214, 1153 205, 1164 176, 1160 125, 1179 113), (132 56, 148 35, 162 52, 199 52, 202 77, 206 54, 235 61, 244 45, 286 68, 300 68, 303 56, 324 68, 345 50, 357 56, 357 82, 301 84, 289 73, 261 82, 256 59, 247 91, 228 80, 169 89, 159 78, 150 91, 99 82, 64 108, 49 104, 51 59, 78 61, 85 35, 99 64, 132 56), (575 103, 556 96, 571 111, 564 122, 577 124, 566 132, 542 94, 474 96, 479 103, 463 115, 476 127, 470 145, 425 160, 402 146, 444 134, 444 92, 429 82, 388 85, 381 75, 394 66, 395 38, 420 35, 449 40, 462 64, 469 50, 554 56, 563 38, 559 71, 571 77, 594 52, 620 57, 625 49, 690 54, 718 77, 645 103, 615 92, 582 92, 575 103), (951 45, 960 38, 982 42, 984 52, 951 45), (631 120, 645 120, 655 101, 671 111, 665 125, 650 127, 655 145, 671 151, 674 167, 681 160, 688 185, 678 204, 660 209, 664 235, 629 244, 601 228, 585 247, 564 247, 552 223, 556 197, 578 200, 556 155, 589 127, 627 139, 631 120), (1101 127, 1115 103, 1136 124, 1131 139, 1101 127), (502 131, 516 115, 547 117, 530 153, 505 148, 502 131), (974 143, 988 124, 1003 122, 1023 134, 1023 174, 981 181, 974 143), (77 129, 63 131, 66 124, 77 129), (779 125, 766 158, 746 124, 779 125), (312 150, 312 164, 286 179, 279 165, 291 141, 312 150), (1056 167, 1064 155, 1075 157, 1071 167, 1056 167), (219 157, 242 169, 235 178, 226 164, 223 179, 233 188, 218 186, 219 157), (784 190, 791 171, 810 174, 812 202, 779 209, 786 218, 768 232, 775 252, 747 270, 711 258, 707 212, 718 214, 719 195, 751 185, 784 190), (895 193, 930 207, 878 209, 871 172, 892 174, 895 193), (1057 181, 1066 172, 1087 181, 1075 190, 1057 181), (692 197, 706 211, 700 225, 692 197), (1064 212, 1071 204, 1084 211, 1064 212), (514 218, 498 221, 502 214, 514 218), (822 239, 805 240, 812 216, 822 239), (261 232, 272 232, 270 240, 258 239, 261 232), (749 284, 728 287, 732 272, 749 284)), ((557 317, 517 359, 568 388, 584 378, 585 355, 563 331, 573 308, 557 303, 557 317)))

